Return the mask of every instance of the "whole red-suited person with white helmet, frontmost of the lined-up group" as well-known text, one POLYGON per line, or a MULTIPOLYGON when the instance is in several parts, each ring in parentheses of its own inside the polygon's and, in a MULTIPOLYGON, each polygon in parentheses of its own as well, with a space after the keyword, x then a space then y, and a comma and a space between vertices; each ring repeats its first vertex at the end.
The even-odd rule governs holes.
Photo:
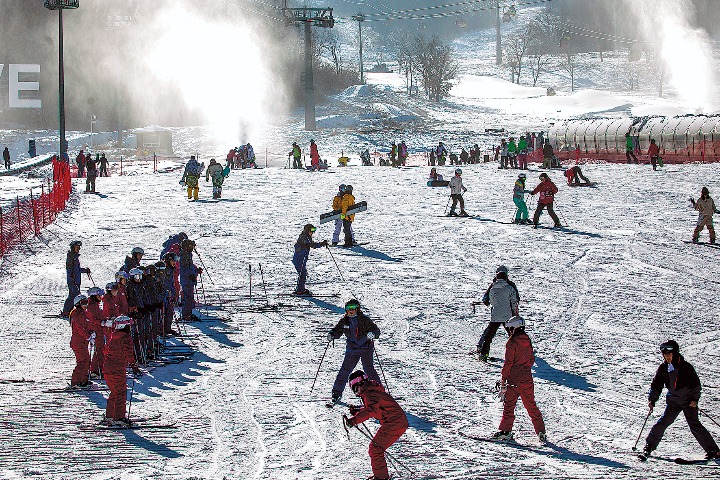
POLYGON ((106 326, 112 325, 112 333, 105 344, 105 363, 103 372, 105 382, 110 389, 107 407, 105 409, 105 424, 113 426, 129 426, 130 421, 125 414, 125 397, 127 384, 125 371, 127 366, 132 367, 136 376, 142 375, 135 361, 135 350, 130 334, 133 320, 121 315, 114 320, 107 320, 106 326))

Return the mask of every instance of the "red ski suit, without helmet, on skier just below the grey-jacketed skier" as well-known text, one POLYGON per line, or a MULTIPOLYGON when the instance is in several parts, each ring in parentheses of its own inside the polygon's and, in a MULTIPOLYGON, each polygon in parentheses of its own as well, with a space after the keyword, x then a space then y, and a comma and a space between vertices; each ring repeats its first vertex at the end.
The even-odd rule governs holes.
POLYGON ((505 345, 505 365, 502 369, 503 382, 508 389, 505 393, 503 418, 500 430, 509 432, 515 422, 515 405, 518 396, 522 399, 525 410, 535 427, 535 433, 545 431, 545 422, 540 409, 535 404, 535 386, 533 385, 531 368, 535 363, 530 337, 524 331, 514 333, 505 345))

